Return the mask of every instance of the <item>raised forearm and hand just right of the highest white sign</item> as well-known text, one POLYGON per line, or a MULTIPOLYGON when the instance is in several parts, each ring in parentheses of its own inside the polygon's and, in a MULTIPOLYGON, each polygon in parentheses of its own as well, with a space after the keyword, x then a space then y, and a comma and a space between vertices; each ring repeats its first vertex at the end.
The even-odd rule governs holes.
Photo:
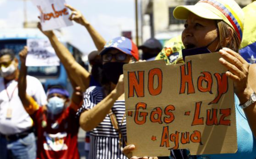
POLYGON ((99 32, 97 32, 94 29, 94 27, 89 23, 89 21, 87 21, 84 18, 84 15, 81 14, 79 10, 73 8, 72 6, 69 6, 68 4, 66 4, 65 6, 68 7, 72 12, 69 19, 74 20, 76 23, 83 25, 86 28, 86 30, 89 32, 97 50, 101 51, 106 44, 106 41, 104 40, 104 38, 99 34, 99 32))

